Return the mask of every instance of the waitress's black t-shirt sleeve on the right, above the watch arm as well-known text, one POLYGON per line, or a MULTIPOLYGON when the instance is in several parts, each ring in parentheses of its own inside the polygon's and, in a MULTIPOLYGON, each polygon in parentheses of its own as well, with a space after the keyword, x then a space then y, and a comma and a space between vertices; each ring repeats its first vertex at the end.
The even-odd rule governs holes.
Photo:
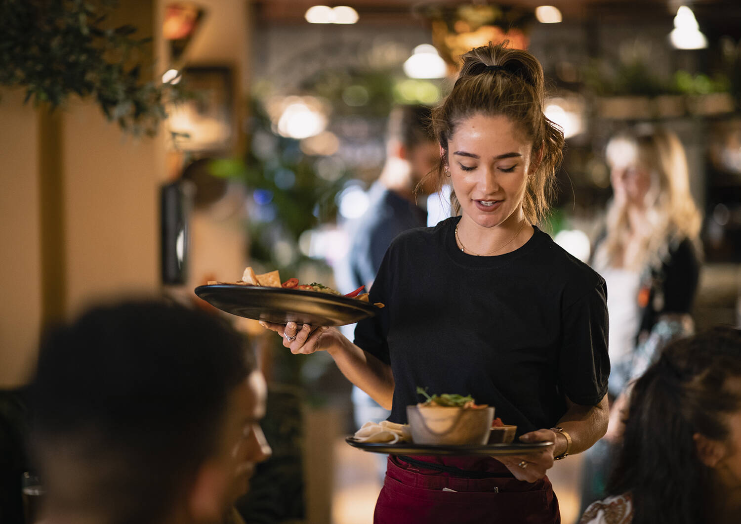
POLYGON ((597 405, 610 375, 605 281, 598 277, 591 291, 565 305, 562 316, 559 385, 571 402, 597 405))

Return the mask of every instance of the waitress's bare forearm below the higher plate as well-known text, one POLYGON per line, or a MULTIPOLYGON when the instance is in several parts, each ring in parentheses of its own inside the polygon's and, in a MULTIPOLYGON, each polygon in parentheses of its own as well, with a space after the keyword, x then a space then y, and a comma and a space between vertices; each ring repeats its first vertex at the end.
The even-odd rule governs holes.
POLYGON ((383 408, 391 409, 393 374, 391 366, 366 353, 344 336, 328 348, 339 371, 383 408))

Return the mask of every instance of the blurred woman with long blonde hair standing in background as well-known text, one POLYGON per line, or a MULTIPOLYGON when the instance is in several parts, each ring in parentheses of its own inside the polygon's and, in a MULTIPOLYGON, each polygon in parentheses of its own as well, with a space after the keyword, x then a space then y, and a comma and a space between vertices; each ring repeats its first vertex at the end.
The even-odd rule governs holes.
POLYGON ((701 216, 679 138, 659 127, 614 136, 605 151, 614 198, 591 261, 608 286, 608 433, 585 457, 582 506, 602 498, 627 388, 673 339, 694 331, 701 216))

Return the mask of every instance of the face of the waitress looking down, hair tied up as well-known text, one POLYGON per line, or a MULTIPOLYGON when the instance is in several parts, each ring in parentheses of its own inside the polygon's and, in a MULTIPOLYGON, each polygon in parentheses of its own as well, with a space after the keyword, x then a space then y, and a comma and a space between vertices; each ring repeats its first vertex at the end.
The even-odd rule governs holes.
POLYGON ((519 219, 532 143, 506 116, 476 114, 448 140, 448 168, 464 217, 493 228, 519 219))

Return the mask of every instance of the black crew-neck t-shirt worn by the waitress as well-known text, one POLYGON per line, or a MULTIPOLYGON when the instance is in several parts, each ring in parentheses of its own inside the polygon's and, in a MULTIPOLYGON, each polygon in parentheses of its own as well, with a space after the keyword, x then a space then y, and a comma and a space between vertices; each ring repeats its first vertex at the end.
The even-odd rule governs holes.
POLYGON ((355 331, 360 348, 391 364, 389 419, 430 394, 471 394, 522 434, 550 428, 565 397, 596 405, 610 363, 605 281, 537 228, 499 256, 459 250, 459 217, 399 235, 371 288, 378 316, 355 331))

